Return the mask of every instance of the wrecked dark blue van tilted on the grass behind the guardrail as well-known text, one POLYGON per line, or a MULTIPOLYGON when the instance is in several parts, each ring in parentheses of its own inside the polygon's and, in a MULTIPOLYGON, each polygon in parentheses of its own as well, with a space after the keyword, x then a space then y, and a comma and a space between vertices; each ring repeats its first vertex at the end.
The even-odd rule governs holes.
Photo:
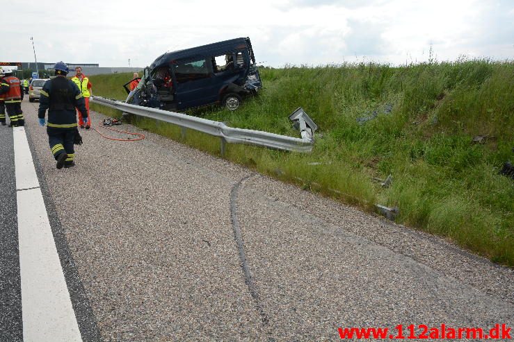
POLYGON ((236 110, 262 88, 250 38, 236 38, 164 53, 146 67, 127 103, 186 110, 220 103, 236 110))

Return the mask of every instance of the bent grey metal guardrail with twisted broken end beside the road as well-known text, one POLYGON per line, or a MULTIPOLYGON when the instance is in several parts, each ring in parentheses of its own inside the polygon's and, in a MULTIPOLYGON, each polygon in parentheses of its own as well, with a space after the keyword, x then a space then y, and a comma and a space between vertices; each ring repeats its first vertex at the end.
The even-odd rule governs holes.
POLYGON ((214 135, 221 139, 221 154, 225 153, 225 144, 250 144, 264 146, 283 151, 310 152, 314 146, 314 131, 318 128, 310 117, 298 108, 289 116, 294 122, 294 126, 300 129, 302 138, 287 137, 270 132, 260 130, 247 130, 243 128, 232 128, 223 122, 192 117, 176 112, 168 112, 167 110, 159 110, 156 108, 141 107, 139 105, 129 105, 121 101, 113 101, 104 99, 99 96, 92 96, 91 102, 99 105, 105 105, 110 108, 121 110, 129 114, 135 114, 140 117, 148 117, 159 121, 173 123, 182 127, 182 135, 185 136, 185 128, 198 130, 208 135, 214 135))

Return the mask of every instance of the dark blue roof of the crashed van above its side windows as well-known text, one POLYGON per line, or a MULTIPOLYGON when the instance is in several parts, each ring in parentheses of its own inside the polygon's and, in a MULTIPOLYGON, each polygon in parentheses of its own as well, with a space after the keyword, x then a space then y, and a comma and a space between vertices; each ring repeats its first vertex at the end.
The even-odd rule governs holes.
POLYGON ((250 43, 250 38, 234 38, 232 40, 224 40, 223 42, 217 42, 202 46, 195 46, 190 49, 183 49, 177 51, 171 51, 167 53, 163 53, 159 57, 154 60, 152 65, 150 65, 150 69, 154 69, 156 67, 161 67, 163 65, 168 65, 170 63, 174 63, 177 60, 195 60, 195 58, 204 58, 205 55, 216 54, 220 51, 220 49, 225 48, 228 51, 234 51, 237 49, 248 49, 250 48, 250 58, 255 63, 255 58, 253 56, 252 45, 250 43))

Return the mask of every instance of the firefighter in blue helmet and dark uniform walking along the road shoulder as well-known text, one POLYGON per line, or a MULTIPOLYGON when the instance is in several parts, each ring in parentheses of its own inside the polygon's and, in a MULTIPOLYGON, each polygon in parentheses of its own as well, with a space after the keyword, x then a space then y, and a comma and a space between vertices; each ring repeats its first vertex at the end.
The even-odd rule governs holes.
POLYGON ((78 134, 75 108, 79 108, 85 122, 88 112, 79 87, 66 78, 70 71, 67 65, 57 62, 54 69, 57 77, 47 81, 41 90, 38 117, 40 126, 45 126, 48 110, 48 141, 57 169, 62 169, 75 165, 73 144, 78 134))

